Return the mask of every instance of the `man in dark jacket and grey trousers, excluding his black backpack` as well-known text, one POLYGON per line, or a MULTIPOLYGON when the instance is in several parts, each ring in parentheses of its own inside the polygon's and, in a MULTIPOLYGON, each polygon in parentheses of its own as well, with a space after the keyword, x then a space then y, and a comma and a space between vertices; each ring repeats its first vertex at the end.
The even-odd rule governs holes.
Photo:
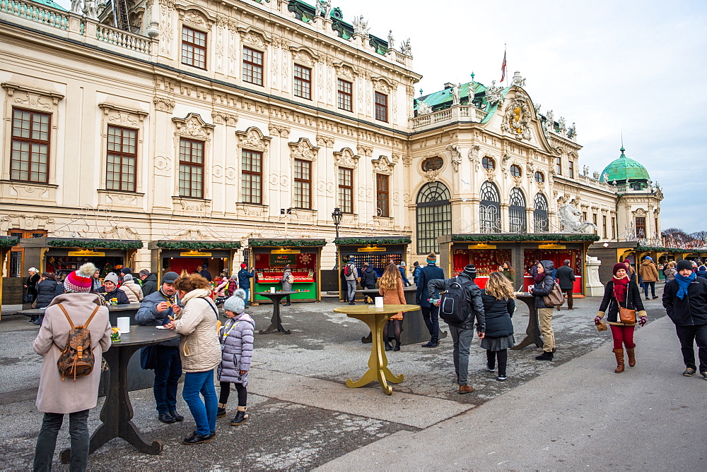
POLYGON ((459 274, 458 280, 457 277, 452 279, 432 279, 426 284, 427 291, 430 294, 446 291, 454 282, 462 284, 467 291, 467 306, 472 309, 466 314, 467 317, 464 318, 462 323, 458 325, 449 323, 449 330, 452 333, 452 342, 454 343, 454 369, 457 371, 460 394, 474 392, 474 387, 468 385, 467 379, 469 376, 469 348, 474 340, 474 319, 477 321, 476 327, 479 339, 484 339, 486 332, 484 302, 481 301, 481 289, 474 282, 476 277, 476 267, 473 264, 469 264, 464 267, 464 272, 459 274))

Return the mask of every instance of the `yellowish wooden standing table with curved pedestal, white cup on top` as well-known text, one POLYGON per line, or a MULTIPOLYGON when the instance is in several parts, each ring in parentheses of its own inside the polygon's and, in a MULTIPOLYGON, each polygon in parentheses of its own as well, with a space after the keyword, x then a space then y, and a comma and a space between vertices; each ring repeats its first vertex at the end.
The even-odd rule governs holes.
POLYGON ((334 308, 335 313, 345 313, 351 318, 361 320, 370 328, 373 339, 370 343, 370 357, 368 358, 368 370, 363 377, 356 380, 346 380, 346 387, 355 389, 363 387, 374 380, 378 380, 380 388, 385 394, 390 395, 393 387, 387 384, 391 382, 399 384, 403 380, 403 375, 393 375, 387 368, 388 358, 383 349, 383 326, 385 322, 395 313, 401 311, 419 310, 419 305, 383 305, 383 308, 375 308, 373 305, 349 305, 334 308))

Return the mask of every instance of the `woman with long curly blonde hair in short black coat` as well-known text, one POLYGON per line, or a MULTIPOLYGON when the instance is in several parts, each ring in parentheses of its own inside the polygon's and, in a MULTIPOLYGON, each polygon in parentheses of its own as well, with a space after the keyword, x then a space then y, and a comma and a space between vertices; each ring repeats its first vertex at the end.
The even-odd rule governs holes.
POLYGON ((513 322, 515 311, 513 285, 501 272, 491 272, 486 289, 481 291, 481 301, 486 313, 486 336, 481 339, 481 348, 486 349, 486 369, 496 370, 498 358, 498 381, 504 382, 508 364, 508 348, 515 346, 513 322))

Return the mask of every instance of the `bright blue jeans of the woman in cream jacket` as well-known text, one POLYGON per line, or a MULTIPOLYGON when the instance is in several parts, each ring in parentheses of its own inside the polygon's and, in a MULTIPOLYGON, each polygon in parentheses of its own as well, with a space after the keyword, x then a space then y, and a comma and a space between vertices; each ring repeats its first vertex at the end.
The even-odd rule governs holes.
POLYGON ((182 397, 197 423, 197 435, 206 436, 211 434, 211 431, 216 431, 218 401, 214 388, 214 369, 206 372, 187 372, 182 397), (204 401, 201 401, 199 394, 204 397, 204 401))

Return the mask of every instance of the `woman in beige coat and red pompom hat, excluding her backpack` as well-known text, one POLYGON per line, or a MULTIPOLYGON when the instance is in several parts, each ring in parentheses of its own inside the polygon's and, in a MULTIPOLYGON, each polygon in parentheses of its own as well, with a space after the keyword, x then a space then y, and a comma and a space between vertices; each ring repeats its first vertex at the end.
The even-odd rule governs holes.
POLYGON ((34 351, 43 357, 36 405, 37 410, 44 413, 35 447, 35 471, 49 471, 52 468, 57 434, 67 413, 71 470, 85 471, 88 467, 89 410, 98 402, 100 365, 103 353, 110 348, 111 333, 108 308, 102 305, 100 296, 90 293, 93 272, 95 266, 90 263, 69 272, 65 282, 66 293, 55 297, 47 307, 45 323, 33 344, 34 351), (57 361, 72 328, 62 308, 69 314, 74 326, 88 329, 92 341, 93 370, 75 379, 73 376, 62 378, 57 369, 57 361), (57 349, 57 346, 62 347, 57 349))

